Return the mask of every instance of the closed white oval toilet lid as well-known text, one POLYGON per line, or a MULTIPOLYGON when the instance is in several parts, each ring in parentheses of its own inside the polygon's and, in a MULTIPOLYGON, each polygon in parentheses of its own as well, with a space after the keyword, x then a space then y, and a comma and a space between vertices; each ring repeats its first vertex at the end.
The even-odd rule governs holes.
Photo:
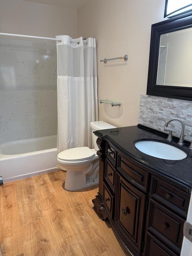
POLYGON ((58 154, 58 158, 64 161, 81 161, 92 158, 95 153, 88 147, 67 149, 58 154))

